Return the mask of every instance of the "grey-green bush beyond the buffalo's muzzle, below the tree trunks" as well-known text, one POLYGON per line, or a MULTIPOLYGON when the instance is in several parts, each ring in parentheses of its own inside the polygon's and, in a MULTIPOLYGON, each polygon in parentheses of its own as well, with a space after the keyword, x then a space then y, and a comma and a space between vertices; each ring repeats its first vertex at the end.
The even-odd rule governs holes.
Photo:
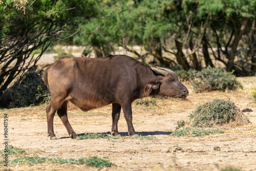
POLYGON ((214 90, 237 90, 242 88, 242 84, 237 80, 232 72, 227 72, 224 68, 211 68, 210 66, 197 72, 197 79, 192 81, 195 92, 209 92, 214 90))

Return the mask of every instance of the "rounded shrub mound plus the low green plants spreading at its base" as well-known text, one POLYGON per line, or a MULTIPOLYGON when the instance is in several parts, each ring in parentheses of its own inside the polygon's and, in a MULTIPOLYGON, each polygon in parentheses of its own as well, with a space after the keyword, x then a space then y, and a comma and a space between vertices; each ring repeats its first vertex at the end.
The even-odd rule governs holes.
POLYGON ((198 108, 189 115, 190 120, 179 120, 172 136, 198 137, 209 134, 224 133, 219 129, 223 125, 245 125, 248 118, 230 100, 214 99, 198 108))

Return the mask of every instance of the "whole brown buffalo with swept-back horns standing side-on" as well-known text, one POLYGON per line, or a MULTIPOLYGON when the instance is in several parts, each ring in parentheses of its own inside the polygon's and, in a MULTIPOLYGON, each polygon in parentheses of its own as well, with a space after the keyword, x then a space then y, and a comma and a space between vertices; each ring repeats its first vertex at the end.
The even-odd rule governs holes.
POLYGON ((82 111, 112 103, 112 134, 118 135, 117 122, 121 108, 129 135, 135 135, 132 123, 132 102, 151 95, 185 98, 188 90, 172 70, 153 68, 125 55, 103 58, 62 57, 44 73, 51 92, 46 108, 48 136, 53 132, 53 117, 57 111, 69 135, 76 138, 67 116, 68 100, 82 111))

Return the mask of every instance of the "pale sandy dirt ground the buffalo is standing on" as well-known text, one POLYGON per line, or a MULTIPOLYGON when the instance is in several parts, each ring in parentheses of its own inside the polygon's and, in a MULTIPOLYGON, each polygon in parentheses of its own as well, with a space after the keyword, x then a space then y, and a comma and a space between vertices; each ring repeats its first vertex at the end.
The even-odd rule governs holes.
MULTIPOLYGON (((221 168, 241 168, 256 170, 256 103, 249 93, 256 88, 256 77, 239 78, 244 89, 237 92, 194 93, 190 84, 184 83, 189 90, 186 99, 157 98, 157 105, 136 105, 133 103, 133 124, 139 135, 154 136, 127 137, 127 125, 121 113, 118 123, 119 139, 73 140, 68 136, 65 126, 56 115, 54 131, 58 140, 47 137, 46 105, 1 110, 1 123, 4 114, 9 117, 9 145, 25 148, 26 155, 39 157, 61 157, 64 159, 81 157, 105 157, 117 166, 95 168, 72 164, 36 164, 9 166, 11 170, 220 170, 221 168), (224 134, 203 137, 173 137, 180 119, 214 98, 230 99, 241 110, 251 109, 245 115, 252 122, 243 127, 232 127, 224 134), (180 148, 178 148, 180 147, 180 148), (215 147, 220 147, 216 151, 215 147)), ((112 106, 82 112, 69 105, 69 121, 79 134, 110 134, 112 106)), ((3 126, 2 126, 3 128, 3 126)), ((2 131, 3 133, 3 131, 2 131)), ((1 137, 4 135, 1 133, 1 137)), ((2 138, 4 139, 4 138, 2 138)), ((3 149, 1 147, 1 149, 3 149)), ((9 160, 14 157, 9 156, 9 160)), ((4 169, 4 168, 1 168, 4 169)), ((1 170, 0 169, 0 170, 1 170)))

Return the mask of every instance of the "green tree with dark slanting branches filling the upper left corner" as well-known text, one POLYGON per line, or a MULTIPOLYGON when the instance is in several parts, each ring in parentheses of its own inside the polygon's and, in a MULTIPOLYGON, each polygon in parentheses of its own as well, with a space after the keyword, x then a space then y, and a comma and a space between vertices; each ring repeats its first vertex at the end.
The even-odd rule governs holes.
POLYGON ((78 23, 86 23, 95 16, 96 2, 1 1, 0 96, 13 79, 18 80, 35 67, 52 41, 72 36, 79 30, 78 23), (38 51, 41 53, 36 54, 38 51))

